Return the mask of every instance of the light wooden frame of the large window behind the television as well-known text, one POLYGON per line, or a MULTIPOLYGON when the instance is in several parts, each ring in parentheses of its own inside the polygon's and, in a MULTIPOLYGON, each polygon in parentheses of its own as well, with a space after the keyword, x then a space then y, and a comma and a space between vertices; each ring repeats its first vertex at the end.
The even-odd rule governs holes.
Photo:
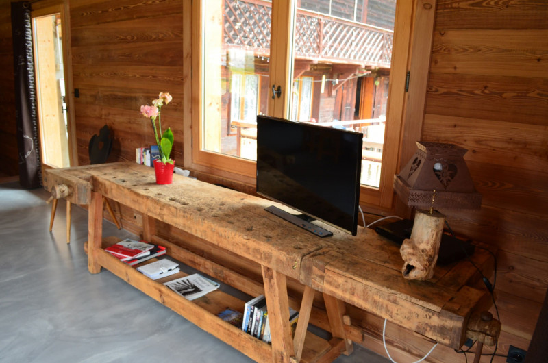
MULTIPOLYGON (((279 18, 291 21, 295 16, 292 3, 293 0, 273 0, 272 23, 279 18)), ((255 162, 201 150, 202 6, 203 1, 184 2, 184 166, 254 186, 255 162)), ((381 210, 393 209, 393 177, 402 160, 404 163, 413 155, 415 141, 421 137, 435 12, 436 0, 397 1, 382 175, 379 188, 362 185, 360 191, 360 203, 381 210), (412 80, 406 92, 408 72, 412 80)), ((271 54, 281 50, 290 58, 292 39, 288 33, 288 29, 277 29, 277 38, 271 40, 271 54)), ((288 64, 278 62, 271 69, 271 83, 280 84, 282 90, 290 89, 292 82, 288 64)), ((284 117, 288 98, 269 101, 269 114, 284 117)))

